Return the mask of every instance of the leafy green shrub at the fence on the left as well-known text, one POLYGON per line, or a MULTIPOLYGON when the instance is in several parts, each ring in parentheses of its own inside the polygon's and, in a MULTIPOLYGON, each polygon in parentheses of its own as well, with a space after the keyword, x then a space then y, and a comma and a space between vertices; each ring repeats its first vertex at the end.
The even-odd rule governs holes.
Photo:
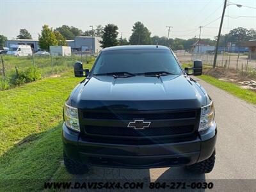
POLYGON ((36 81, 41 78, 39 68, 29 67, 24 71, 20 71, 18 67, 15 67, 15 73, 12 75, 11 83, 20 85, 36 81))

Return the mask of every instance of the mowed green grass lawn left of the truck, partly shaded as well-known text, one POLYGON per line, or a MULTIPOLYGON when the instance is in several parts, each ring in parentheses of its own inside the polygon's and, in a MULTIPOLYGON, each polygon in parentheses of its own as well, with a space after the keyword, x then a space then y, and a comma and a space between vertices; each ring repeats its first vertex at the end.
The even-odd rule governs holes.
POLYGON ((0 92, 0 191, 38 191, 44 181, 70 177, 61 166, 61 125, 63 104, 83 79, 73 76, 0 92))

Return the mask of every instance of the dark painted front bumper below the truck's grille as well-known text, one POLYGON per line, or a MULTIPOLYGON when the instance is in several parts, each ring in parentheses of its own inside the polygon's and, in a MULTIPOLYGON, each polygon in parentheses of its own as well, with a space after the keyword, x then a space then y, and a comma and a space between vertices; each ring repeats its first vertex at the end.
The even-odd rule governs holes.
POLYGON ((194 164, 209 158, 215 148, 214 123, 195 140, 155 145, 92 143, 63 124, 63 150, 70 159, 96 166, 161 168, 194 164))

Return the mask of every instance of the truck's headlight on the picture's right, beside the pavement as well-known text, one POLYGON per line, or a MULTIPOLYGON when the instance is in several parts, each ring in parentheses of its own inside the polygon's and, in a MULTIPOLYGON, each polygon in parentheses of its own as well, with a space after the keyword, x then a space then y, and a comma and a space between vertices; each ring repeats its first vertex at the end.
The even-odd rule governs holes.
POLYGON ((201 108, 200 125, 198 131, 208 129, 214 121, 214 106, 213 102, 201 108))

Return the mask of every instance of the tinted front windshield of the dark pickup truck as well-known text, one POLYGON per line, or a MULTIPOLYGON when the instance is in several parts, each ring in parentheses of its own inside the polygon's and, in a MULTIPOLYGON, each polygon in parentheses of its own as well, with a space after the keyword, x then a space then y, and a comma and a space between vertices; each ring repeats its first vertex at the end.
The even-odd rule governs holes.
POLYGON ((168 50, 118 50, 102 52, 95 63, 93 75, 115 72, 144 74, 159 71, 177 75, 182 73, 177 60, 168 50))

